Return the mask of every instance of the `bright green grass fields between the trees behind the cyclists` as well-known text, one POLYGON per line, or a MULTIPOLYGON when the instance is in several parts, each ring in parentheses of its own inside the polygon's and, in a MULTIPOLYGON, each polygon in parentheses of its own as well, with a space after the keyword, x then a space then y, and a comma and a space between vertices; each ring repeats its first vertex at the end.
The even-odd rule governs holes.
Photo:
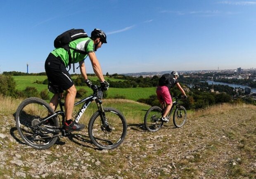
MULTIPOLYGON (((27 86, 36 87, 38 92, 47 89, 47 85, 34 83, 34 82, 36 82, 36 80, 43 81, 43 80, 47 79, 47 76, 13 76, 13 78, 16 82, 17 90, 24 90, 27 86)), ((72 77, 72 78, 76 78, 76 77, 72 77)), ((90 80, 97 80, 96 76, 89 76, 88 78, 90 80)), ((109 78, 109 77, 105 77, 105 79, 108 81, 109 80, 119 81, 119 79, 109 78)), ((123 81, 123 80, 121 80, 121 81, 123 81)), ((80 88, 85 88, 85 90, 87 90, 89 92, 89 94, 92 93, 92 90, 90 90, 87 86, 86 87, 80 87, 80 86, 77 87, 78 90, 80 88)), ((155 91, 156 91, 155 87, 109 88, 107 93, 108 93, 108 97, 115 97, 116 95, 120 95, 120 96, 124 96, 126 99, 137 101, 140 98, 147 98, 150 95, 155 94, 155 91)))

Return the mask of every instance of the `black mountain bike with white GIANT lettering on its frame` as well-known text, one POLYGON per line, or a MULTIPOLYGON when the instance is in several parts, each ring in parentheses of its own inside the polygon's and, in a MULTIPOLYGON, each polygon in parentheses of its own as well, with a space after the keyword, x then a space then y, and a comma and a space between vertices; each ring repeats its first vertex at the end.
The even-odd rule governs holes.
MULTIPOLYGON (((50 148, 58 137, 68 137, 64 129, 65 112, 61 100, 59 87, 57 89, 60 111, 53 111, 43 99, 30 97, 25 99, 17 108, 15 114, 17 130, 22 139, 29 146, 38 150, 50 148)), ((114 149, 126 137, 127 123, 123 114, 111 107, 102 105, 103 92, 99 86, 92 85, 93 94, 76 102, 74 106, 82 104, 74 115, 78 122, 92 101, 97 104, 97 111, 91 116, 88 124, 90 140, 100 149, 114 149)))

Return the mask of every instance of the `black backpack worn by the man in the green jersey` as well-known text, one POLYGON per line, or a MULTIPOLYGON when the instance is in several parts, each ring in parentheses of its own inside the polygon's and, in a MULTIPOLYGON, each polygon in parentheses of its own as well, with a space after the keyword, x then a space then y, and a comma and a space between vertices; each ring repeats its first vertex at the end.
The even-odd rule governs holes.
POLYGON ((69 47, 69 43, 72 42, 73 40, 76 40, 78 38, 86 38, 88 37, 87 33, 83 29, 70 29, 55 38, 53 44, 55 48, 64 48, 69 54, 69 68, 70 64, 72 63, 73 59, 71 59, 71 52, 70 49, 73 49, 74 51, 81 53, 81 54, 86 54, 86 52, 74 49, 72 47, 69 47))

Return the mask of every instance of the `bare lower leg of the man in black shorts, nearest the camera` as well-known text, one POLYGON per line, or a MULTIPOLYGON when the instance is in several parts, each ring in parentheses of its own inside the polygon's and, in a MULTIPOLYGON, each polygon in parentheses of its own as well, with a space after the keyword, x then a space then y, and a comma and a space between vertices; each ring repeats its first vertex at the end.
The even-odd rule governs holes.
POLYGON ((66 111, 66 120, 72 119, 72 112, 74 108, 75 98, 76 98, 76 87, 75 85, 71 86, 66 90, 66 99, 65 99, 65 111, 66 111))

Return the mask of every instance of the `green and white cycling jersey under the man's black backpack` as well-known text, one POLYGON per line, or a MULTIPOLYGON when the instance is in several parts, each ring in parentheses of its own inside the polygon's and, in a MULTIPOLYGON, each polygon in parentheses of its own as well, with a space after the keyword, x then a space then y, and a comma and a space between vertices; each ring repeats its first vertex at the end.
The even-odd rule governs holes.
MULTIPOLYGON (((83 59, 85 59, 88 56, 88 53, 95 51, 94 50, 95 49, 94 42, 89 37, 78 38, 78 39, 70 42, 69 47, 77 49, 77 50, 81 50, 86 53, 86 54, 81 54, 76 51, 74 52, 74 50, 70 48, 71 59, 73 59, 72 63, 77 63, 79 61, 82 61, 83 59)), ((60 57, 66 67, 69 66, 69 53, 64 48, 56 48, 51 53, 55 57, 60 57)))

